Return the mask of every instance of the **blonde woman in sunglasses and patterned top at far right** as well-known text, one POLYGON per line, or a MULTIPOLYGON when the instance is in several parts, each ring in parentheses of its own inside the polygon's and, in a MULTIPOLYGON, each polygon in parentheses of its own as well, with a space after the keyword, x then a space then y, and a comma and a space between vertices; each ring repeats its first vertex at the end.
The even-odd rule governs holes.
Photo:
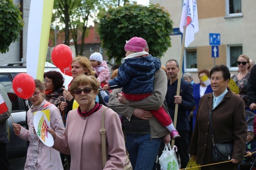
POLYGON ((247 55, 240 55, 237 60, 237 66, 239 72, 232 76, 232 79, 236 82, 239 87, 239 96, 244 100, 244 105, 246 110, 249 110, 248 101, 247 101, 247 82, 250 77, 250 72, 248 72, 248 68, 250 68, 250 59, 247 55))

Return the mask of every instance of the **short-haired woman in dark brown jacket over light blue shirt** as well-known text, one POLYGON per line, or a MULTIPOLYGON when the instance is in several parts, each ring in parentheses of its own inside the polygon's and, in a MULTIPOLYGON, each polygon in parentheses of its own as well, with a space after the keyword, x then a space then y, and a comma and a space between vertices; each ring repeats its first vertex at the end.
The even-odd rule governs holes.
POLYGON ((244 158, 247 136, 244 100, 227 90, 230 80, 228 67, 218 65, 210 71, 213 93, 202 96, 196 115, 196 124, 190 142, 189 153, 197 164, 214 163, 212 160, 212 129, 214 143, 234 141, 231 162, 201 167, 201 170, 238 170, 238 162, 244 158))

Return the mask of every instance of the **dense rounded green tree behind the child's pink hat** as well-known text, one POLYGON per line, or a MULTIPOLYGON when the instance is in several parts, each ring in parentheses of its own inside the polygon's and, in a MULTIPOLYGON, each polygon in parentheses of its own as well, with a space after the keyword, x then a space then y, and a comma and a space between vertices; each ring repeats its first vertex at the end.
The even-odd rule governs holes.
POLYGON ((142 6, 126 3, 124 6, 102 11, 98 16, 102 47, 106 50, 108 59, 114 57, 116 63, 120 63, 125 55, 125 41, 132 37, 146 39, 150 54, 154 57, 162 57, 171 47, 172 20, 170 14, 159 4, 142 6))

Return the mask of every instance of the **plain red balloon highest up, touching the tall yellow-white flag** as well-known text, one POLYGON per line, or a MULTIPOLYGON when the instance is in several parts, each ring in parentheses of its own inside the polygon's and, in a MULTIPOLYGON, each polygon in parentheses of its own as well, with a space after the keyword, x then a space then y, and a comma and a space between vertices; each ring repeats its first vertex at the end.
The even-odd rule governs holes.
POLYGON ((64 44, 57 45, 52 50, 52 63, 58 68, 67 68, 73 60, 73 53, 70 47, 64 44))

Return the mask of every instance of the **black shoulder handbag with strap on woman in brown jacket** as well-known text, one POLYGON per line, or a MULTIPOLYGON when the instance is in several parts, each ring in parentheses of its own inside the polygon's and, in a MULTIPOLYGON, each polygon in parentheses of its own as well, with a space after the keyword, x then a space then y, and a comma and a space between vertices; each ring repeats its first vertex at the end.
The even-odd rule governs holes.
MULTIPOLYGON (((210 126, 212 129, 211 109, 209 112, 209 116, 210 116, 210 126)), ((233 148, 234 148, 234 141, 228 140, 228 141, 220 141, 220 143, 214 143, 214 135, 213 135, 213 129, 212 129, 212 143, 213 143, 212 161, 214 163, 231 160, 233 148)))

